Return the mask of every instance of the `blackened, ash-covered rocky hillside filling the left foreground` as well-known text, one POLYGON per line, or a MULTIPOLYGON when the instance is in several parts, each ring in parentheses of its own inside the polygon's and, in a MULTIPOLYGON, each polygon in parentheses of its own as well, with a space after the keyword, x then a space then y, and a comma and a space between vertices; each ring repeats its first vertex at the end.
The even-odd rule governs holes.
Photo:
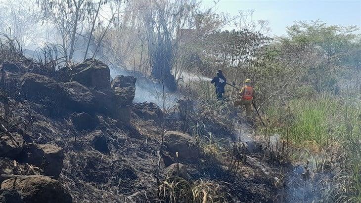
POLYGON ((272 160, 249 138, 252 127, 244 125, 249 139, 239 140, 239 125, 189 101, 175 100, 166 114, 139 103, 138 87, 152 92, 144 78, 111 77, 92 59, 46 72, 24 58, 2 63, 1 73, 2 201, 197 202, 188 197, 196 189, 207 202, 289 200, 283 179, 293 166, 272 160), (205 132, 222 140, 224 159, 200 145, 205 132))

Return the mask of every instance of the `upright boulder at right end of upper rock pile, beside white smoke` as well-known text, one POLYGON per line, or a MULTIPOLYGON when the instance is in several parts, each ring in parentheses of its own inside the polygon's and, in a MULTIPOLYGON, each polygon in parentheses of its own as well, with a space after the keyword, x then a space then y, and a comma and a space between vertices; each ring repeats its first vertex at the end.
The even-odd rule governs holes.
POLYGON ((119 106, 132 104, 135 97, 135 82, 133 76, 116 76, 110 86, 114 90, 116 103, 119 106))

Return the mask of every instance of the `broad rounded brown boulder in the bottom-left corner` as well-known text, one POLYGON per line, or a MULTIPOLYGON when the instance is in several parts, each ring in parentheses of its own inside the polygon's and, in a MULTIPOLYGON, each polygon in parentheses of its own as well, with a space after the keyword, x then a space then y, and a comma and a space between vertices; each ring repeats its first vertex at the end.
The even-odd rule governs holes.
POLYGON ((60 182, 42 175, 10 178, 1 183, 2 190, 17 190, 26 203, 72 203, 60 182))

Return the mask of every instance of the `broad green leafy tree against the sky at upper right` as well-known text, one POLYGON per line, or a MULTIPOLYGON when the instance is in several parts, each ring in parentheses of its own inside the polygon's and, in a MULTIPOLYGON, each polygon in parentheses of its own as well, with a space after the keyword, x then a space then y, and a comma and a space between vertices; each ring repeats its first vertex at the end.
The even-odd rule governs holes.
MULTIPOLYGON (((355 34, 357 26, 336 26, 316 21, 298 21, 287 27, 288 36, 280 38, 287 46, 309 47, 315 53, 312 57, 303 58, 305 61, 317 60, 307 68, 308 82, 317 91, 337 91, 340 82, 358 82, 360 77, 360 36, 355 34), (356 59, 356 60, 355 60, 356 59), (347 79, 347 80, 345 80, 347 79)), ((296 54, 296 53, 295 53, 296 54)), ((299 58, 299 55, 296 55, 299 58)))

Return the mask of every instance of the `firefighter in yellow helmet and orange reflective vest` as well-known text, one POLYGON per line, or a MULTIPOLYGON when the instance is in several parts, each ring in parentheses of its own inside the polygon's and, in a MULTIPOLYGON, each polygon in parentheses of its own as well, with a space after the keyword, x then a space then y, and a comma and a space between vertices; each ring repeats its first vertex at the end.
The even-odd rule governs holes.
POLYGON ((254 95, 254 89, 251 82, 252 81, 250 79, 246 79, 244 81, 244 85, 239 92, 240 101, 236 101, 234 103, 235 106, 244 105, 244 107, 246 108, 247 119, 250 119, 252 114, 252 100, 254 95))

